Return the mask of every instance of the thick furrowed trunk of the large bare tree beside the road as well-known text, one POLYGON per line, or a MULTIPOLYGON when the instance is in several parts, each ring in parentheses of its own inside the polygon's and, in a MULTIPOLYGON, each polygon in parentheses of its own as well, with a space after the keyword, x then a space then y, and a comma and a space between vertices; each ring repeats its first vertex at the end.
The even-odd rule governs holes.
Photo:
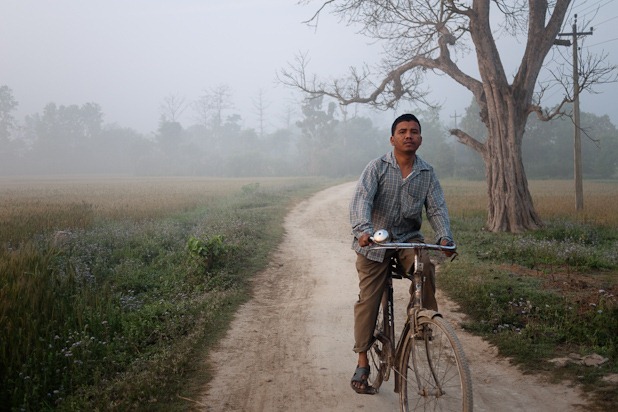
MULTIPOLYGON (((477 91, 475 98, 481 108, 481 120, 488 131, 487 142, 481 150, 489 203, 487 229, 492 232, 522 232, 541 225, 532 204, 521 156, 531 99, 530 87, 534 87, 534 82, 526 78, 530 87, 524 87, 528 85, 524 80, 520 84, 509 85, 500 53, 489 35, 490 5, 489 0, 473 2, 474 14, 470 21, 470 35, 476 46, 482 79, 482 92, 477 91)), ((537 8, 545 11, 546 5, 539 3, 537 8)), ((535 13, 533 15, 537 16, 535 13)), ((545 13, 539 15, 545 16, 545 13)), ((536 18, 531 18, 536 21, 536 18)), ((535 61, 539 68, 542 60, 535 61)), ((532 78, 536 79, 537 74, 538 70, 532 78)))

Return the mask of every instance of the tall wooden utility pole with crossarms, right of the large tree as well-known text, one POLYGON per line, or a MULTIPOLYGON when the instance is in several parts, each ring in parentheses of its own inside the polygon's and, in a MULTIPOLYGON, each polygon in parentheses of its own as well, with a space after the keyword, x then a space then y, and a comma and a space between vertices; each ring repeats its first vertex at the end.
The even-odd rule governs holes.
POLYGON ((582 183, 582 139, 581 139, 581 127, 579 122, 579 68, 578 57, 579 52, 577 50, 577 36, 588 36, 592 34, 592 27, 588 32, 577 32, 577 14, 575 15, 575 22, 573 23, 573 32, 571 33, 558 33, 558 36, 571 36, 572 40, 555 40, 554 44, 559 46, 571 46, 573 45, 573 122, 575 124, 575 132, 573 138, 573 163, 574 163, 574 177, 575 177, 575 209, 584 209, 584 188, 582 183))

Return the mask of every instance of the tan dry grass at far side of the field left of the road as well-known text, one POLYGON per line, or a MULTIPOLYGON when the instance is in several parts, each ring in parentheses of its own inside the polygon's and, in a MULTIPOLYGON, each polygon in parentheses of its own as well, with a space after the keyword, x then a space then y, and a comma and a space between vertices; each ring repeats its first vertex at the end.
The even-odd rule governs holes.
POLYGON ((99 219, 154 219, 207 205, 247 185, 264 189, 283 181, 292 179, 0 178, 0 245, 41 232, 86 228, 99 219))

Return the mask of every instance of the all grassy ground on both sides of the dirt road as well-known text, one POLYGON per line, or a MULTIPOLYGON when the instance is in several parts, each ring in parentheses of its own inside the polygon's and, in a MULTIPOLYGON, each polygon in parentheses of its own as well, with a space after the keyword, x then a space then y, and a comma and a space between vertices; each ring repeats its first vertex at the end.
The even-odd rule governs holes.
MULTIPOLYGON (((335 183, 0 179, 0 410, 186 410, 286 211, 335 183)), ((584 182, 583 213, 571 182, 531 182, 546 226, 518 235, 483 231, 483 182, 443 186, 460 256, 439 287, 466 328, 615 408, 618 182, 584 182)))

